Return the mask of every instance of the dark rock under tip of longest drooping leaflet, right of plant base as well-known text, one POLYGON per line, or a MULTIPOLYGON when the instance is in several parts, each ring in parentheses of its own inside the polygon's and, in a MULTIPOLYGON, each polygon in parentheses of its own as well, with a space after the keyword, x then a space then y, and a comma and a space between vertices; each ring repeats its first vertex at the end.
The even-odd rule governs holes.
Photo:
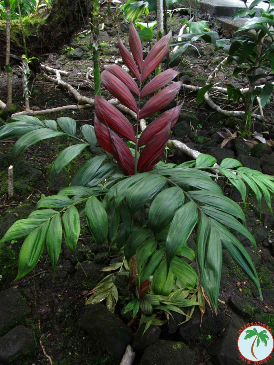
POLYGON ((224 312, 212 316, 210 308, 206 307, 201 326, 201 312, 198 308, 195 308, 191 320, 179 326, 179 334, 184 342, 193 341, 207 334, 218 336, 224 329, 224 323, 224 312))

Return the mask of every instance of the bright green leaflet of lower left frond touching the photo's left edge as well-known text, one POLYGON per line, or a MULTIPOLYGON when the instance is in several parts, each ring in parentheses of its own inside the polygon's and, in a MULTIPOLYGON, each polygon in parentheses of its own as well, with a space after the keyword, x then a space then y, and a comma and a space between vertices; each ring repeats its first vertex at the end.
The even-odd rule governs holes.
POLYGON ((0 241, 0 247, 4 242, 11 241, 11 239, 20 238, 30 234, 37 227, 41 226, 45 222, 45 219, 20 219, 17 220, 8 231, 5 233, 4 237, 0 241))

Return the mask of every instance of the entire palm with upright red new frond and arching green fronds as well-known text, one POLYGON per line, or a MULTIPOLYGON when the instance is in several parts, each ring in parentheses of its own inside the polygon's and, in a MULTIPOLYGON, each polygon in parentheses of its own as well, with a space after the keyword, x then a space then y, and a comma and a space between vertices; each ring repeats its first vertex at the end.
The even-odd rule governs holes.
MULTIPOLYGON (((137 82, 117 65, 107 65, 101 75, 102 85, 136 112, 137 126, 140 118, 166 107, 180 88, 180 82, 169 84, 177 75, 175 70, 152 76, 169 49, 170 39, 171 33, 161 38, 143 60, 141 41, 131 24, 132 55, 121 41, 119 49, 137 82)), ((224 196, 215 181, 212 166, 216 159, 200 154, 196 161, 180 165, 161 161, 181 107, 159 114, 141 135, 138 127, 134 131, 128 119, 101 96, 95 97, 94 127, 82 126, 81 137, 76 136, 76 121, 71 118, 56 122, 17 116, 0 128, 0 139, 19 137, 12 150, 14 158, 46 138, 65 135, 74 139, 76 144, 54 161, 53 179, 85 149, 95 153, 68 187, 39 200, 37 209, 15 222, 1 238, 3 245, 26 237, 16 280, 37 265, 45 247, 54 270, 63 239, 76 255, 82 216, 98 245, 108 242, 124 253, 121 262, 103 268, 107 276, 89 293, 87 304, 106 299, 113 312, 121 300, 123 312, 131 312, 134 320, 146 324, 145 329, 165 323, 172 311, 185 314, 187 321, 196 306, 204 312, 205 300, 217 312, 223 248, 262 296, 252 260, 231 230, 247 237, 254 248, 255 239, 245 226, 240 205, 224 196), (187 245, 193 234, 195 253, 187 245), (192 268, 194 258, 198 275, 192 268)), ((225 158, 218 170, 220 178, 227 178, 239 190, 244 202, 246 183, 259 203, 262 195, 265 197, 271 210, 274 177, 245 168, 231 158, 225 158)))

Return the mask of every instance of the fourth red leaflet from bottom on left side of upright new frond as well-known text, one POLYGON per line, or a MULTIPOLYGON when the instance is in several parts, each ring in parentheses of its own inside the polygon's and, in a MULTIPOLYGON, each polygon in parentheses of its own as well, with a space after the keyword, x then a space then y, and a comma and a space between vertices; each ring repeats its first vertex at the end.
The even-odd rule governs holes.
POLYGON ((132 93, 118 77, 114 76, 109 71, 103 71, 101 74, 101 82, 112 95, 121 101, 122 104, 137 113, 138 108, 132 93))

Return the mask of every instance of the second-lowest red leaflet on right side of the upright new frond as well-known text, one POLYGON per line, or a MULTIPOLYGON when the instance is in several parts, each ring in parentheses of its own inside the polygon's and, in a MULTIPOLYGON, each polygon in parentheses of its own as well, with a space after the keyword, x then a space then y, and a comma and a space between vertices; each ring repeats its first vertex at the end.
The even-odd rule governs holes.
POLYGON ((183 106, 183 103, 177 105, 176 107, 167 110, 156 119, 153 120, 152 123, 145 128, 142 132, 141 137, 138 141, 138 147, 146 145, 148 141, 155 136, 155 134, 159 133, 162 129, 164 129, 168 123, 170 123, 171 128, 175 126, 177 119, 180 114, 180 110, 183 106))

